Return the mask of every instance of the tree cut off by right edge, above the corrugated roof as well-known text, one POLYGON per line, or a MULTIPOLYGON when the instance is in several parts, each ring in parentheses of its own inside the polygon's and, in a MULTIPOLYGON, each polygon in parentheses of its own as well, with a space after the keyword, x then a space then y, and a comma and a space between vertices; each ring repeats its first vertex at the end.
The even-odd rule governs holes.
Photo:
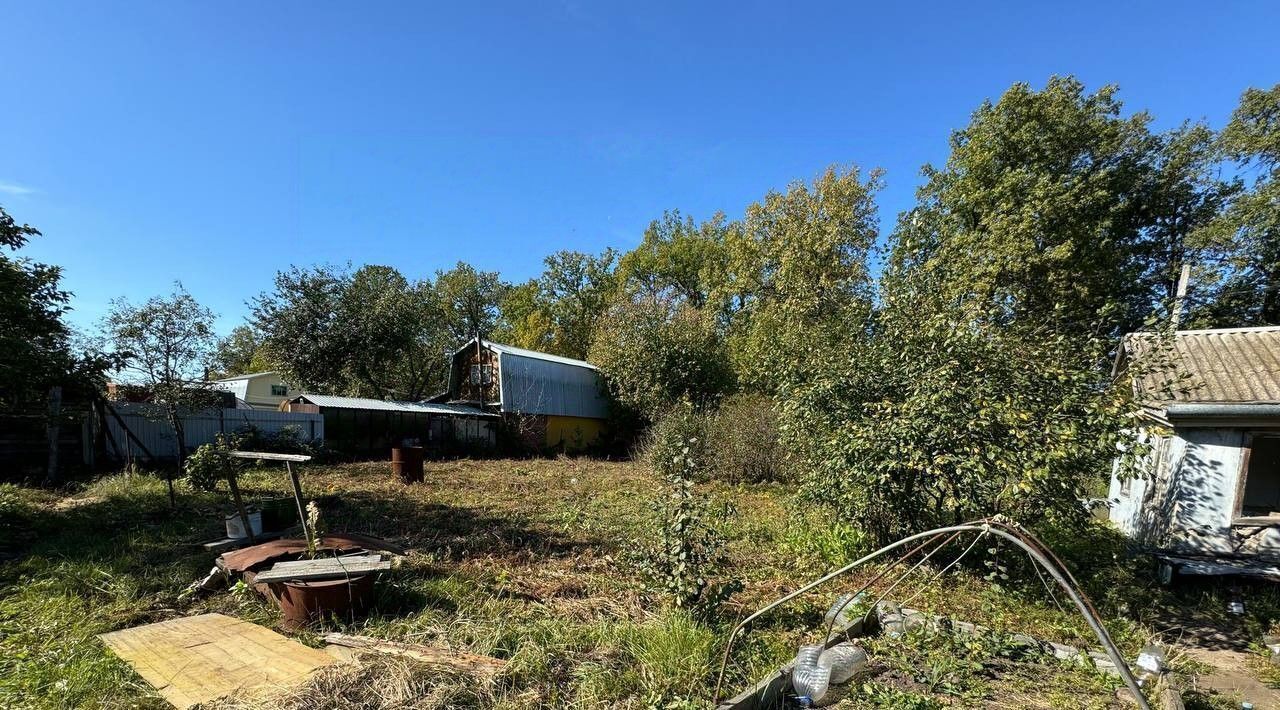
POLYGON ((1280 84, 1245 91, 1219 141, 1252 182, 1201 233, 1224 270, 1211 287, 1206 319, 1280 325, 1280 84))

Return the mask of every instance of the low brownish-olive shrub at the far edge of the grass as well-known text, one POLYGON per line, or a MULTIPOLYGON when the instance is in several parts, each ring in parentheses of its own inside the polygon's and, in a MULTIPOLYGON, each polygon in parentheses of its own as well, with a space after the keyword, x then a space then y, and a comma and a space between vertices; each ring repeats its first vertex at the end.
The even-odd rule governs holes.
POLYGON ((778 414, 772 398, 735 394, 708 423, 710 477, 735 484, 791 477, 792 462, 778 439, 778 414))

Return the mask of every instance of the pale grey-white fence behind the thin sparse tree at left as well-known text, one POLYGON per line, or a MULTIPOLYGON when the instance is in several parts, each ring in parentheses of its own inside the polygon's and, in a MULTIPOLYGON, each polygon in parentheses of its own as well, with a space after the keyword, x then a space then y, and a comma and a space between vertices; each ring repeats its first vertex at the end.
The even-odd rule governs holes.
MULTIPOLYGON (((142 443, 151 455, 157 458, 177 458, 178 441, 173 434, 173 427, 164 418, 164 409, 156 404, 138 404, 120 402, 111 404, 120 416, 120 421, 128 427, 137 441, 142 443)), ((120 421, 108 416, 106 423, 111 432, 111 439, 120 449, 113 452, 108 445, 109 455, 125 455, 132 450, 134 458, 146 458, 138 450, 137 444, 129 439, 120 427, 120 421)), ((285 427, 294 427, 298 438, 303 441, 324 439, 324 416, 301 412, 273 412, 268 409, 204 409, 191 412, 182 417, 187 450, 193 450, 201 444, 209 444, 218 434, 234 434, 236 431, 256 427, 262 434, 279 434, 285 427)))

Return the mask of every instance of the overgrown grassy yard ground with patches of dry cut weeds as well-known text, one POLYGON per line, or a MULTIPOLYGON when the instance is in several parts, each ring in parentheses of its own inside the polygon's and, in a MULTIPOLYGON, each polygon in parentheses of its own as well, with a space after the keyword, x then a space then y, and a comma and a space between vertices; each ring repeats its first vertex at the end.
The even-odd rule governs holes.
MULTIPOLYGON (((637 577, 636 541, 652 530, 649 501, 659 491, 639 464, 433 463, 426 482, 408 487, 392 481, 385 463, 310 467, 302 478, 328 531, 366 532, 411 549, 381 582, 371 615, 316 631, 435 643, 509 664, 493 683, 393 661, 337 668, 292 695, 233 698, 227 707, 705 707, 736 618, 865 549, 855 530, 827 525, 785 486, 707 485, 728 539, 726 572, 744 588, 717 619, 698 620, 664 610, 637 577)), ((251 499, 284 494, 287 486, 283 471, 271 468, 242 482, 251 499)), ((218 536, 228 501, 224 491, 180 485, 178 503, 178 513, 170 512, 163 481, 146 475, 108 476, 64 494, 0 486, 0 706, 164 707, 95 635, 205 611, 278 624, 275 609, 252 592, 182 594, 212 565, 196 544, 218 536)), ((1076 540, 1059 542, 1059 550, 1129 658, 1153 635, 1176 641, 1180 628, 1167 619, 1178 609, 1196 610, 1210 626, 1226 622, 1225 595, 1215 587, 1178 596, 1157 590, 1112 544, 1076 540)), ((893 597, 919 591, 913 606, 1089 645, 1083 620, 1056 609, 1038 582, 1002 586, 1001 571, 992 572, 992 582, 961 572, 934 586, 913 577, 893 597)), ((730 690, 815 640, 826 608, 854 586, 822 588, 763 619, 735 654, 730 690)), ((1249 594, 1249 615, 1235 619, 1240 638, 1257 638, 1280 618, 1277 599, 1265 588, 1249 594)), ((315 635, 301 638, 317 642, 315 635)), ((913 635, 877 640, 870 650, 881 673, 842 706, 1121 706, 1111 678, 1018 658, 1000 636, 913 635)), ((1172 659, 1183 683, 1196 690, 1189 705, 1238 707, 1240 697, 1197 684, 1216 669, 1194 658, 1201 660, 1172 659)), ((1260 683, 1275 675, 1257 649, 1247 647, 1243 658, 1260 683)))

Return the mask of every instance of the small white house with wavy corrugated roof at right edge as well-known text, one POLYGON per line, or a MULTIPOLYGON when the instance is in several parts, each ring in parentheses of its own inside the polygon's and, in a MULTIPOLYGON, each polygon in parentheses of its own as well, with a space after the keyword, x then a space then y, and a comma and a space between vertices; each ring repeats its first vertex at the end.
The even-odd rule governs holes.
POLYGON ((1180 330, 1137 367, 1155 343, 1116 356, 1151 426, 1143 473, 1112 473, 1111 521, 1167 568, 1280 577, 1280 327, 1180 330))

